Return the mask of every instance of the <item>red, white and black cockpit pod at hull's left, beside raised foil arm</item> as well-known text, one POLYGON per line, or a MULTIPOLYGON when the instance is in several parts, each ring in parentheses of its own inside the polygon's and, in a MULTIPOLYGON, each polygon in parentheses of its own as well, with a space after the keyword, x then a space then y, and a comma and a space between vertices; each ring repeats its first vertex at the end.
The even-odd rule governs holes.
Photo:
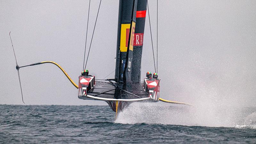
POLYGON ((78 82, 78 97, 87 96, 87 92, 93 89, 95 82, 95 76, 79 76, 78 82))

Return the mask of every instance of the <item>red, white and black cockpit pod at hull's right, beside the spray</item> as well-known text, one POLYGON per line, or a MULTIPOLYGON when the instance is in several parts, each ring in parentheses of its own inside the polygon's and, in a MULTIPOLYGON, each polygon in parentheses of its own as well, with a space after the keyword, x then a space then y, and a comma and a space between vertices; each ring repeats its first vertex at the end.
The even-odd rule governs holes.
POLYGON ((144 78, 143 89, 148 94, 148 97, 154 101, 159 101, 160 79, 152 77, 144 78))

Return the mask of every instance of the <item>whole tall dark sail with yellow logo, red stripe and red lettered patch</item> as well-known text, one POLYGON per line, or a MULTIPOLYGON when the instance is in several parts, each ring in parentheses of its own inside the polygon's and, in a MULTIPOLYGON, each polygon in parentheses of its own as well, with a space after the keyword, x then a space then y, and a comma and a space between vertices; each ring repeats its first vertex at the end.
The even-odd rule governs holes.
POLYGON ((147 0, 119 0, 115 80, 128 92, 140 82, 146 9, 147 0))

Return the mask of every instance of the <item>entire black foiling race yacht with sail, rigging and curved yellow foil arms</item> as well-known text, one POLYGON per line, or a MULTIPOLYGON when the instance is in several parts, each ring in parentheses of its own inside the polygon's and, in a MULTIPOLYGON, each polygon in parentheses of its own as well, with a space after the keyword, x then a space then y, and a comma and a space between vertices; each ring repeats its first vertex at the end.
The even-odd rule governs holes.
MULTIPOLYGON (((100 5, 99 5, 99 9, 100 9, 100 5)), ((89 4, 89 11, 90 11, 90 4, 89 4)), ((38 64, 44 64, 44 63, 52 63, 58 66, 62 70, 62 72, 67 76, 69 81, 78 89, 79 99, 106 101, 110 106, 110 108, 116 112, 116 114, 118 111, 123 110, 125 107, 127 107, 129 104, 135 101, 136 102, 158 102, 160 100, 167 103, 189 105, 183 102, 175 102, 175 101, 164 100, 160 98, 159 97, 160 79, 157 78, 156 73, 152 78, 152 74, 148 72, 147 78, 144 78, 143 82, 140 82, 141 55, 142 55, 146 11, 147 11, 147 0, 119 0, 115 78, 97 80, 95 79, 95 76, 88 75, 88 70, 85 69, 88 56, 87 56, 85 67, 83 68, 83 72, 79 76, 78 85, 68 76, 68 74, 65 72, 63 68, 60 67, 59 64, 53 61, 42 61, 42 62, 19 67, 16 56, 15 56, 13 44, 12 44, 12 49, 13 49, 15 60, 16 60, 16 69, 18 70, 19 80, 20 80, 20 74, 19 74, 20 68, 27 67, 27 66, 34 66, 38 64)), ((99 13, 99 10, 98 10, 98 13, 99 13)), ((97 14, 97 17, 98 17, 98 14, 97 14)), ((89 13, 88 13, 88 19, 89 19, 89 13)), ((96 22, 97 22, 97 18, 96 18, 96 22)), ((96 25, 96 22, 95 22, 95 25, 96 25)), ((88 23, 87 23, 87 28, 88 28, 88 23)), ((10 38, 11 38, 11 35, 10 35, 10 38)), ((87 38, 87 33, 86 33, 86 38, 87 38)), ((11 42, 12 42, 12 39, 11 39, 11 42)), ((90 49, 89 49, 89 52, 90 52, 90 49)), ((89 55, 89 52, 88 52, 88 55, 89 55)), ((155 58, 154 58, 154 61, 155 61, 155 58)), ((22 95, 21 83, 20 83, 20 90, 22 95)), ((22 95, 22 101, 23 101, 23 95, 22 95)))

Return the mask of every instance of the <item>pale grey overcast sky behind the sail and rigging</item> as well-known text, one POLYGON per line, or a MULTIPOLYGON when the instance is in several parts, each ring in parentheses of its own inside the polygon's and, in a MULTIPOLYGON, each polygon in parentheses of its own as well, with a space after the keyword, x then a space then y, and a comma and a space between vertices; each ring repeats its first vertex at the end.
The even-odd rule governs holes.
MULTIPOLYGON (((87 48, 99 6, 91 2, 87 48)), ((102 1, 87 69, 101 79, 115 70, 119 1, 102 1)), ((149 1, 156 49, 156 1, 149 1)), ((78 83, 83 68, 89 1, 0 1, 0 104, 22 104, 9 32, 19 66, 55 61, 78 83)), ((255 106, 256 1, 158 2, 160 97, 192 104, 255 106)), ((148 14, 148 12, 147 12, 148 14)), ((148 15, 142 78, 154 72, 148 15)), ((101 105, 80 100, 52 64, 20 68, 30 104, 101 105)), ((108 78, 114 78, 114 73, 108 78)))

